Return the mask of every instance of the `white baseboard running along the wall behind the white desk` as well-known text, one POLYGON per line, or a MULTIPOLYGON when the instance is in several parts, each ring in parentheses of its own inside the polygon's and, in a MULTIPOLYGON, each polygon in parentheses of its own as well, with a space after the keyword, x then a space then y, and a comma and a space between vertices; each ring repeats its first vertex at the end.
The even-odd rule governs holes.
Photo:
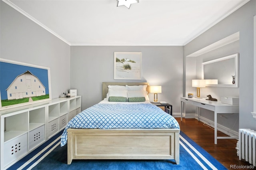
MULTIPOLYGON (((180 113, 172 113, 173 117, 180 117, 180 113)), ((182 117, 184 117, 185 114, 182 114, 182 117)), ((198 115, 195 113, 186 113, 186 119, 190 119, 190 118, 194 118, 196 120, 198 120, 198 115)), ((199 117, 199 121, 202 123, 205 123, 206 125, 214 128, 214 121, 211 121, 209 119, 206 119, 205 117, 199 117)), ((217 130, 219 130, 220 132, 228 135, 228 136, 232 136, 232 137, 238 137, 238 132, 231 130, 230 128, 224 127, 223 125, 220 125, 217 123, 217 130)))

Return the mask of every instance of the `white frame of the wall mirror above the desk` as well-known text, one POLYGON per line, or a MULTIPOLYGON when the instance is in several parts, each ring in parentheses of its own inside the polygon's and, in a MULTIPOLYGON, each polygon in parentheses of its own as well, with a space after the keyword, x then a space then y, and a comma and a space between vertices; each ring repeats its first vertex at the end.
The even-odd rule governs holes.
POLYGON ((235 67, 235 84, 216 84, 216 85, 207 84, 206 86, 210 86, 210 87, 238 87, 238 84, 239 84, 239 55, 238 55, 238 53, 203 62, 202 63, 202 79, 204 79, 204 65, 209 64, 209 63, 222 61, 222 60, 225 60, 225 59, 230 59, 230 58, 235 59, 235 65, 234 65, 234 67, 235 67))

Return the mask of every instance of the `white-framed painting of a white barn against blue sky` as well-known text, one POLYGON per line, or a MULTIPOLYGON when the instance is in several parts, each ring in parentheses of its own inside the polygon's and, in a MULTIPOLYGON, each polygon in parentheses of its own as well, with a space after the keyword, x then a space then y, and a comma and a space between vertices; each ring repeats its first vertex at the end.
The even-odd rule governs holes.
POLYGON ((0 110, 51 100, 50 68, 0 58, 0 110))

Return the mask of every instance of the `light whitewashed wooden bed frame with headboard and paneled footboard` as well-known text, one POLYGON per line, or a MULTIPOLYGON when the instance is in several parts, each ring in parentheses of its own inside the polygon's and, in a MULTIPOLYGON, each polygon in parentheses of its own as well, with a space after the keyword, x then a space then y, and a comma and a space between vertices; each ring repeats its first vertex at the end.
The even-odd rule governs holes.
MULTIPOLYGON (((102 99, 108 85, 148 85, 148 83, 102 83, 102 99)), ((74 129, 68 132, 68 164, 73 159, 170 160, 180 164, 180 129, 114 128, 74 129)))

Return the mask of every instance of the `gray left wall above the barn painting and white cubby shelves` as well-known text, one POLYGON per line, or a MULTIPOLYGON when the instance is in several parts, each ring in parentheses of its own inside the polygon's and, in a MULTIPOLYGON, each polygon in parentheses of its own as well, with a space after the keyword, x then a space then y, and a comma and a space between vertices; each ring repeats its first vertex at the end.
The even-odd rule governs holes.
POLYGON ((50 68, 52 99, 70 88, 70 46, 0 1, 0 57, 50 68))

